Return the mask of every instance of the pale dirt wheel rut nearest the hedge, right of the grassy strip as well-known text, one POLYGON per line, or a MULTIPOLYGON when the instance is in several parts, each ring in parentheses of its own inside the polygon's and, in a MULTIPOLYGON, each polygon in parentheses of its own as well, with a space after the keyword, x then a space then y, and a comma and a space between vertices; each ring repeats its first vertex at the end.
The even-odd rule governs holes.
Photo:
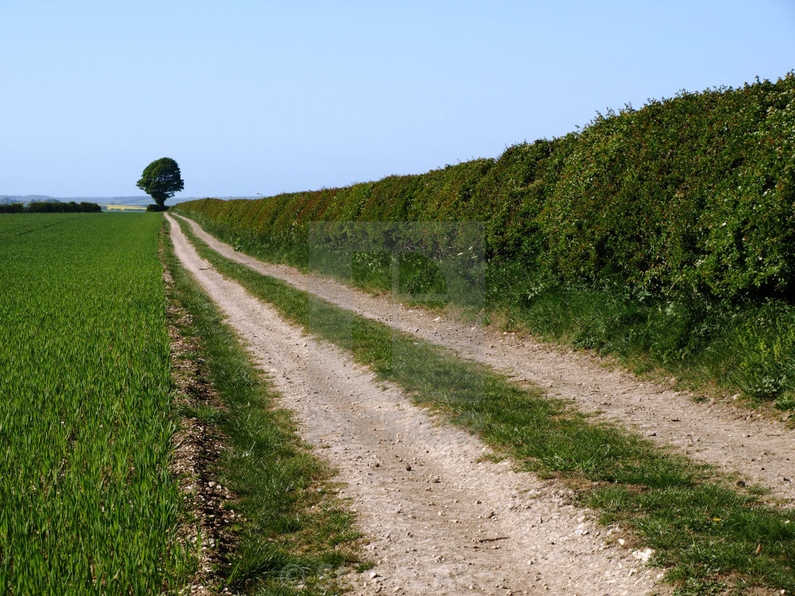
POLYGON ((766 486, 781 505, 795 504, 795 432, 783 420, 725 401, 694 401, 692 393, 640 381, 617 366, 605 366, 607 361, 586 350, 560 350, 528 335, 467 325, 288 265, 258 261, 235 252, 196 222, 186 220, 197 236, 224 257, 368 319, 452 348, 519 384, 541 386, 550 396, 571 401, 580 411, 615 421, 654 443, 736 474, 738 482, 766 486))

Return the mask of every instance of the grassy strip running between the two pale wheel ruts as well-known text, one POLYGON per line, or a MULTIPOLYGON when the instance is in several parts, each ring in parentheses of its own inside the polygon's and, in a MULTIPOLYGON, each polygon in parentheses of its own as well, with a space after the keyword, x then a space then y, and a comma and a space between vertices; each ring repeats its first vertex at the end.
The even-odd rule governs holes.
POLYGON ((766 586, 795 592, 795 513, 735 490, 712 470, 637 435, 590 422, 562 402, 512 385, 487 366, 354 315, 211 250, 180 220, 202 257, 312 334, 477 432, 526 469, 578 490, 603 521, 634 530, 681 594, 766 586))

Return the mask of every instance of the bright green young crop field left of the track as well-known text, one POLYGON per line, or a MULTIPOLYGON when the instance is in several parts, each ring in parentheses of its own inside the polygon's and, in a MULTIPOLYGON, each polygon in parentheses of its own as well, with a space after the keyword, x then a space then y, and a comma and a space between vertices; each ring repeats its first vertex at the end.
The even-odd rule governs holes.
MULTIPOLYGON (((0 591, 176 593, 159 215, 0 219, 0 591)), ((175 546, 176 545, 176 546, 175 546)))

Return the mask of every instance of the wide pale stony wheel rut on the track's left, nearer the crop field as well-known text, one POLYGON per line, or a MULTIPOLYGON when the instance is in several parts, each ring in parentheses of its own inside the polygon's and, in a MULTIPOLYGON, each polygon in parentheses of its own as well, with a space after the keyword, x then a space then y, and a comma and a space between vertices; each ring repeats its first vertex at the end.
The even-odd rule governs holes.
POLYGON ((491 451, 479 439, 438 424, 399 387, 224 279, 171 221, 177 257, 270 374, 302 438, 344 482, 340 494, 374 561, 349 578, 354 594, 668 591, 655 585, 661 570, 642 563, 648 553, 622 546, 630 542, 619 542, 619 528, 595 524, 595 513, 510 460, 484 459, 491 451))

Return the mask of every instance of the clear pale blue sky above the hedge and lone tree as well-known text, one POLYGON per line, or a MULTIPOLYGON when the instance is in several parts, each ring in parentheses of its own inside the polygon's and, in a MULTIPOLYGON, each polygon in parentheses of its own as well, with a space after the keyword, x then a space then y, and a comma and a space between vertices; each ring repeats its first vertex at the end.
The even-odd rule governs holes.
MULTIPOLYGON (((795 68, 795 1, 0 0, 0 194, 425 172, 795 68)), ((180 195, 177 195, 179 198, 180 195)))

